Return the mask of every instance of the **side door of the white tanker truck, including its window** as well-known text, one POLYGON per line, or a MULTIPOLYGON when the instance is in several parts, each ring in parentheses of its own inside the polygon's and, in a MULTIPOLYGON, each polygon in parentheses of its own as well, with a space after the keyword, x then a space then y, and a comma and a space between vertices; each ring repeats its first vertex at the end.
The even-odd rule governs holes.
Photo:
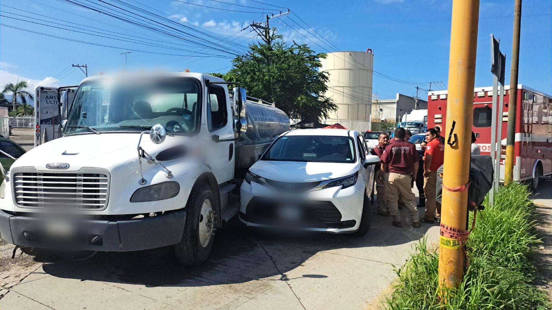
POLYGON ((235 141, 216 142, 234 137, 232 114, 225 87, 210 85, 205 104, 206 121, 209 130, 210 145, 208 164, 219 184, 232 179, 234 174, 234 143, 235 141))

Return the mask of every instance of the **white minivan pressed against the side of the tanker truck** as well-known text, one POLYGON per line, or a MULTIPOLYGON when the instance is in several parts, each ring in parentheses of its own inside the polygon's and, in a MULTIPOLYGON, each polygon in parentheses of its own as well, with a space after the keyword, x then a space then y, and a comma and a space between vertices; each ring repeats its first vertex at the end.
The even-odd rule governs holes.
POLYGON ((248 170, 240 220, 247 226, 363 236, 370 228, 379 162, 357 131, 285 132, 248 170))

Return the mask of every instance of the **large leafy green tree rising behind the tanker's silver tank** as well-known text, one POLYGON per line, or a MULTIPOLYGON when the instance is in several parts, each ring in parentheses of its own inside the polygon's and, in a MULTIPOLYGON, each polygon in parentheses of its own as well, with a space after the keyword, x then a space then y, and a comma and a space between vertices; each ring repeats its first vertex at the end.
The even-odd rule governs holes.
POLYGON ((315 54, 306 44, 285 44, 275 33, 249 48, 232 61, 226 81, 240 83, 252 97, 273 101, 292 118, 320 120, 337 109, 324 95, 328 74, 318 71, 326 54, 315 54))

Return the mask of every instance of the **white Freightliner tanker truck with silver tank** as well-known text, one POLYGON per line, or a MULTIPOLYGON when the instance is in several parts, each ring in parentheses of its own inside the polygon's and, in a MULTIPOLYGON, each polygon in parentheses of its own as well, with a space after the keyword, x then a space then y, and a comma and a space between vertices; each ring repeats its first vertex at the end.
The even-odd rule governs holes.
POLYGON ((289 130, 283 111, 244 88, 230 96, 229 84, 189 72, 84 79, 62 137, 7 172, 2 237, 29 254, 173 245, 182 264, 201 264, 238 212, 232 192, 247 168, 289 130))

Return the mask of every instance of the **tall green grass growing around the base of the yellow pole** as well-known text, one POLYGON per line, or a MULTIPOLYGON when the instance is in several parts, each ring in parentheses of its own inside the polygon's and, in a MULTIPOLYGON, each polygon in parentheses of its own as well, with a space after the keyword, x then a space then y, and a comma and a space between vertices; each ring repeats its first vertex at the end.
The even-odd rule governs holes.
POLYGON ((470 265, 458 288, 439 294, 439 256, 422 240, 410 260, 395 269, 398 278, 386 308, 550 309, 546 294, 531 285, 537 273, 532 249, 540 240, 534 231, 535 206, 528 196, 526 186, 510 185, 498 191, 494 206, 477 212, 476 227, 468 239, 470 265))

